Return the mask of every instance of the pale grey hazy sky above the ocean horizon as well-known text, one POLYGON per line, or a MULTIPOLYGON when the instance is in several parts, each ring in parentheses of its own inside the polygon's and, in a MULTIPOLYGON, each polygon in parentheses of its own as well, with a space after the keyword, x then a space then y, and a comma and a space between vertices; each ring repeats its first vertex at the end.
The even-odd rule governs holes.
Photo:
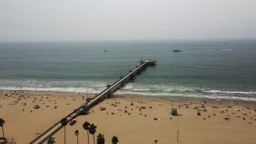
POLYGON ((256 38, 256 0, 0 0, 0 41, 256 38))

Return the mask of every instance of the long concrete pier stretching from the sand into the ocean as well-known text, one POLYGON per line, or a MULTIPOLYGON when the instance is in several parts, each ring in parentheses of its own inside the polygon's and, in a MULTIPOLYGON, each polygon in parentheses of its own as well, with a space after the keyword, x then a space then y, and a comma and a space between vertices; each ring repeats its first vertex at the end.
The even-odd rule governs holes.
MULTIPOLYGON (((113 93, 117 91, 119 88, 123 87, 125 83, 129 82, 130 80, 134 79, 137 74, 140 74, 142 70, 144 70, 148 66, 152 66, 156 64, 156 60, 154 59, 144 59, 140 61, 140 65, 136 66, 135 69, 130 70, 129 73, 125 76, 121 76, 118 81, 113 83, 112 85, 107 85, 106 89, 104 89, 101 93, 97 94, 94 98, 86 99, 86 103, 82 106, 75 109, 71 112, 66 118, 68 122, 70 122, 75 117, 79 116, 81 113, 86 112, 90 109, 91 106, 99 103, 102 99, 111 98, 113 93)), ((40 134, 36 139, 34 139, 29 144, 41 144, 50 136, 54 135, 58 130, 60 130, 63 126, 61 125, 61 121, 54 124, 51 128, 46 130, 44 133, 40 134)))

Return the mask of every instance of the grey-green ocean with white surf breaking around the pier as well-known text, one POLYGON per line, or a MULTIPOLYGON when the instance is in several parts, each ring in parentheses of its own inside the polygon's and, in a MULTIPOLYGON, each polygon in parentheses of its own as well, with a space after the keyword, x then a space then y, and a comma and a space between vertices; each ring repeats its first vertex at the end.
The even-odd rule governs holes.
POLYGON ((141 59, 117 94, 256 101, 256 40, 2 42, 0 89, 100 93, 141 59))

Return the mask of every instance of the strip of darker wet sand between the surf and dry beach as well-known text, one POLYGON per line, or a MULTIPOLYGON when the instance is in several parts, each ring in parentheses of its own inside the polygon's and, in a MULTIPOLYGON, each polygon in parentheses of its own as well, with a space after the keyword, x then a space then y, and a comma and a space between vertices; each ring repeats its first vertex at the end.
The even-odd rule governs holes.
MULTIPOLYGON (((79 98, 84 96, 84 98, 93 98, 97 95, 97 93, 76 93, 76 92, 59 92, 59 91, 16 91, 17 94, 26 94, 29 96, 40 96, 46 95, 46 96, 53 96, 53 95, 59 95, 60 97, 72 97, 72 98, 79 98)), ((11 94, 14 93, 15 95, 15 90, 2 90, 0 93, 1 95, 3 94, 11 94)), ((151 97, 149 95, 132 95, 132 94, 113 94, 113 97, 115 98, 124 98, 126 100, 159 100, 159 101, 166 101, 168 103, 179 103, 179 104, 186 104, 186 105, 191 105, 191 104, 201 104, 203 101, 206 101, 207 104, 212 104, 212 105, 241 105, 241 106, 251 106, 255 107, 256 101, 248 101, 248 100, 231 100, 231 99, 210 99, 210 98, 190 98, 190 97, 170 97, 170 98, 155 98, 151 97)))

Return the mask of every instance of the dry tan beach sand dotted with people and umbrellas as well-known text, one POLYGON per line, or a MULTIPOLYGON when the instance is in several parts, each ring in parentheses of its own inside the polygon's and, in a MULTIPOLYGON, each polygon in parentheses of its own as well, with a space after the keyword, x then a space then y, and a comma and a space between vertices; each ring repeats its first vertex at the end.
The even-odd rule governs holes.
MULTIPOLYGON (((89 95, 92 97, 94 94, 89 95)), ((18 143, 29 143, 38 136, 36 133, 43 133, 85 101, 81 96, 73 93, 42 93, 40 96, 37 93, 31 94, 30 98, 21 98, 19 105, 9 105, 17 98, 18 96, 15 95, 0 97, 0 118, 6 122, 4 130, 7 139, 11 141, 13 136, 18 143), (47 96, 48 99, 46 99, 47 96), (36 102, 32 102, 33 97, 37 98, 36 102), (43 97, 42 100, 40 97, 43 97), (21 103, 27 103, 27 105, 21 103), (36 104, 41 107, 33 109, 36 104), (50 105, 50 107, 46 107, 46 105, 50 105), (54 105, 57 105, 58 108, 54 109, 54 105)), ((172 103, 172 101, 164 99, 142 99, 140 97, 106 99, 92 107, 86 115, 75 118, 77 123, 66 126, 66 143, 77 142, 77 137, 74 135, 75 130, 79 130, 79 143, 88 141, 87 132, 82 128, 85 121, 97 126, 95 141, 96 136, 102 133, 106 140, 105 143, 111 143, 111 138, 114 135, 118 137, 119 143, 154 143, 154 139, 157 139, 158 143, 256 143, 256 121, 251 119, 251 117, 256 118, 253 106, 248 110, 242 105, 232 105, 232 108, 228 109, 226 109, 227 105, 216 105, 218 109, 215 109, 211 107, 213 104, 206 104, 207 111, 200 111, 201 116, 197 116, 197 109, 192 109, 192 107, 201 106, 199 101, 196 104, 187 104, 189 104, 188 109, 185 103, 181 103, 179 108, 179 103, 172 103), (142 100, 142 103, 138 103, 138 100, 142 100), (111 105, 116 102, 118 106, 111 105), (131 103, 134 105, 130 105, 131 103), (152 105, 152 109, 149 108, 150 105, 152 105), (146 106, 146 109, 139 111, 136 106, 146 106), (100 107, 106 107, 106 110, 101 111, 100 107), (172 107, 178 108, 178 114, 182 116, 172 116, 172 107), (128 112, 125 113, 124 110, 128 112), (112 115, 111 112, 115 114, 112 115), (213 113, 216 113, 216 116, 213 116, 213 113), (247 115, 244 115, 245 113, 247 115), (160 121, 155 121, 154 118, 158 118, 160 121), (226 121, 224 118, 230 119, 226 121), (179 142, 177 142, 177 130, 179 131, 179 142)), ((203 110, 201 107, 199 109, 203 110)), ((57 131, 53 137, 55 137, 56 143, 64 143, 64 129, 57 131)), ((89 140, 90 143, 93 143, 93 137, 90 134, 89 140)))

